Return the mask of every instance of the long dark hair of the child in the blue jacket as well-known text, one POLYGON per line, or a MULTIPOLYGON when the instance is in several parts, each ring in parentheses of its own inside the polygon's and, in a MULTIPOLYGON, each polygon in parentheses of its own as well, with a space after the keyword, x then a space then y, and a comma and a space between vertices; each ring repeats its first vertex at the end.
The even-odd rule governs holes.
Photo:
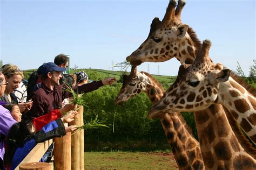
POLYGON ((23 147, 25 141, 31 137, 32 122, 18 122, 11 126, 6 141, 7 149, 4 153, 4 164, 11 165, 12 158, 18 147, 23 147))

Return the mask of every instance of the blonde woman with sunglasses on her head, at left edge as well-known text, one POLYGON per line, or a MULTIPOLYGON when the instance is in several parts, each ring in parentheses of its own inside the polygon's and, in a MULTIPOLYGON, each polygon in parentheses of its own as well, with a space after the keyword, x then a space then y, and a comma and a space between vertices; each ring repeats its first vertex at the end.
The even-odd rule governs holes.
POLYGON ((0 97, 0 101, 18 104, 21 112, 29 111, 32 107, 32 102, 18 103, 17 97, 14 94, 14 90, 19 87, 19 83, 22 81, 22 70, 16 65, 6 64, 2 66, 2 73, 8 84, 6 85, 4 96, 0 97))

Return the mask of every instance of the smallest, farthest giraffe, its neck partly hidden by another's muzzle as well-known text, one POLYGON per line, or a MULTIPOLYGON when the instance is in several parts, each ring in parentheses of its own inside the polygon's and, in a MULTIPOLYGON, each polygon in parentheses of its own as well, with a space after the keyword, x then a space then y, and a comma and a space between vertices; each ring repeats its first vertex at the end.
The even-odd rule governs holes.
MULTIPOLYGON (((150 74, 137 72, 136 67, 132 67, 131 74, 124 74, 123 78, 123 87, 116 97, 116 104, 124 103, 141 92, 147 94, 152 104, 164 95, 161 84, 150 74)), ((187 129, 187 124, 180 113, 165 113, 161 116, 160 122, 179 169, 205 169, 199 142, 188 132, 190 129, 187 129)))

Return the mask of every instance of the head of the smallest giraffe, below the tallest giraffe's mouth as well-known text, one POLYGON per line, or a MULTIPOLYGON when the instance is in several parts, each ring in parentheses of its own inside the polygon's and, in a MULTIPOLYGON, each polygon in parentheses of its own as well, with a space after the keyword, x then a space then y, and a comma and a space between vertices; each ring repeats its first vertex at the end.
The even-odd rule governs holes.
POLYGON ((123 86, 119 91, 115 104, 122 104, 129 100, 129 98, 140 94, 140 92, 146 89, 143 82, 144 77, 141 73, 137 72, 137 67, 132 66, 131 74, 123 74, 123 86))

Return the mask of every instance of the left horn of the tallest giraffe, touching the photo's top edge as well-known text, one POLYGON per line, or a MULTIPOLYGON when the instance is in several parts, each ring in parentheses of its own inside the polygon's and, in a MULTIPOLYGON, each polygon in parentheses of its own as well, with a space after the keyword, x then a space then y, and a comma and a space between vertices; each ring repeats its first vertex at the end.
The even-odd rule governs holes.
POLYGON ((169 5, 166 9, 165 16, 163 18, 163 24, 173 24, 175 23, 175 7, 177 5, 177 0, 170 0, 169 5))

